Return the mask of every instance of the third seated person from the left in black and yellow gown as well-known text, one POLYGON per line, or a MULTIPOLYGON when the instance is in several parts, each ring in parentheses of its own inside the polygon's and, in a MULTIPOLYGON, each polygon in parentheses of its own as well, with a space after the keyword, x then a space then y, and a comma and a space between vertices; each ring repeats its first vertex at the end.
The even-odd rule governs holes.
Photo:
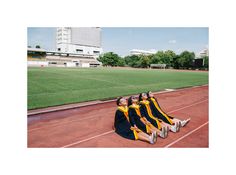
POLYGON ((146 93, 141 93, 139 95, 139 105, 141 116, 146 121, 146 123, 155 126, 159 131, 162 132, 160 136, 162 138, 166 138, 168 135, 168 127, 153 116, 146 93))

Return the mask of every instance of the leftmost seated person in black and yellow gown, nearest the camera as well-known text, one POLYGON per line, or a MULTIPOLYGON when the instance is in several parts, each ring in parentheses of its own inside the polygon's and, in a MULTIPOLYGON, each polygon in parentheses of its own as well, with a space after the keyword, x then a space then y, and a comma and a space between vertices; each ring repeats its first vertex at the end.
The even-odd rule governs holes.
POLYGON ((128 106, 125 98, 120 97, 117 99, 116 104, 118 106, 115 113, 114 129, 120 136, 130 139, 130 140, 143 140, 154 144, 156 137, 154 134, 149 136, 148 134, 142 132, 137 127, 133 127, 129 122, 128 116, 128 106))

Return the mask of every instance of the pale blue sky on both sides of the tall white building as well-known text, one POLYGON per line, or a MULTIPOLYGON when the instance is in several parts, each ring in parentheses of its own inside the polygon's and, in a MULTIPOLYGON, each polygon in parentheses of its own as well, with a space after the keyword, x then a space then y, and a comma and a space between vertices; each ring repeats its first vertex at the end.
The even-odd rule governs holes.
MULTIPOLYGON (((30 27, 27 44, 55 50, 55 34, 53 27, 30 27)), ((120 56, 128 55, 132 49, 199 53, 208 48, 208 35, 207 27, 102 27, 102 48, 104 52, 115 52, 120 56)))

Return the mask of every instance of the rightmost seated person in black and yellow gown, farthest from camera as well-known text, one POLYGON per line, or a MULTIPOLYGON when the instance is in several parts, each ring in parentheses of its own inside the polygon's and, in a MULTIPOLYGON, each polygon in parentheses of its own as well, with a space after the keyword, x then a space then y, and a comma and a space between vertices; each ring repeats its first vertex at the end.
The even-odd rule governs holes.
POLYGON ((157 99, 154 97, 151 91, 147 92, 147 97, 148 97, 148 101, 150 103, 150 107, 154 116, 160 119, 161 121, 165 122, 169 126, 169 129, 171 131, 173 132, 179 131, 180 127, 184 127, 190 121, 190 118, 187 120, 181 121, 177 118, 171 117, 168 114, 166 114, 161 109, 157 99))

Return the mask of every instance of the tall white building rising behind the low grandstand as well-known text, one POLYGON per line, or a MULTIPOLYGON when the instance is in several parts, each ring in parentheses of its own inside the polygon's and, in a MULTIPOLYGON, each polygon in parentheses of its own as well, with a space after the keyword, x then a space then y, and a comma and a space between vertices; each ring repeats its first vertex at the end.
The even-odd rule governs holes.
POLYGON ((94 55, 102 53, 101 28, 59 27, 56 34, 56 49, 63 53, 94 55))

